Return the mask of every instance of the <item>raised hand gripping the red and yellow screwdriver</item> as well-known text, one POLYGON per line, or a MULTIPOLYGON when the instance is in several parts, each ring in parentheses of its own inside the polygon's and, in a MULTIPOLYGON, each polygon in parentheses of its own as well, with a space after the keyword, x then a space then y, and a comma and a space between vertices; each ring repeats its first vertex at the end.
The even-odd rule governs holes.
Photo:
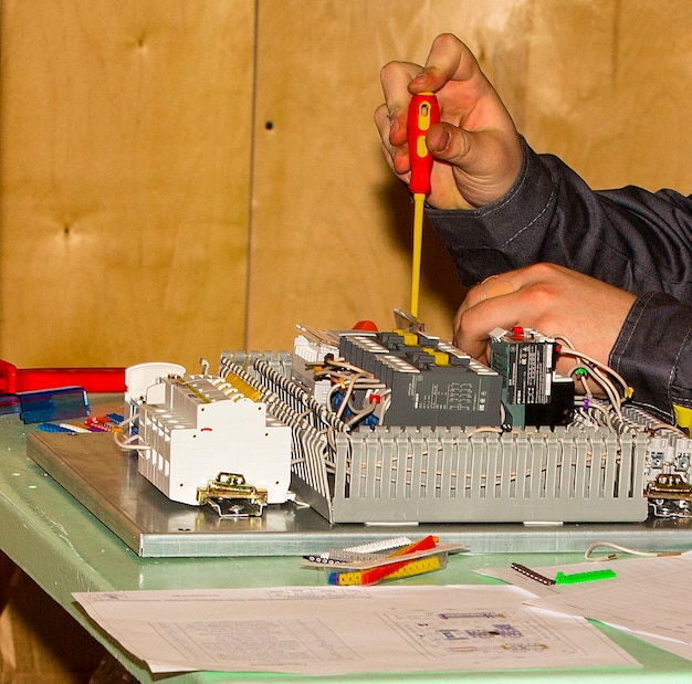
POLYGON ((431 126, 433 164, 428 202, 437 209, 469 209, 501 198, 518 175, 522 148, 512 117, 471 51, 445 33, 432 43, 426 66, 390 62, 380 73, 385 104, 375 112, 385 158, 408 183, 407 115, 412 94, 431 91, 440 123, 431 126))

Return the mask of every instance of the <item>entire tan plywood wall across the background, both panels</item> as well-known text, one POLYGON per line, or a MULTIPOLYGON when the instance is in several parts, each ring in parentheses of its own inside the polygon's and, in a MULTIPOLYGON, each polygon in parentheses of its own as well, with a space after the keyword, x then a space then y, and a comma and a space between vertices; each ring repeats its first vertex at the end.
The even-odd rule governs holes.
MULTIPOLYGON (((287 349, 392 325, 411 206, 379 69, 451 31, 521 131, 594 187, 692 192, 685 0, 3 0, 0 358, 20 367, 287 349)), ((424 235, 421 317, 462 288, 424 235)))

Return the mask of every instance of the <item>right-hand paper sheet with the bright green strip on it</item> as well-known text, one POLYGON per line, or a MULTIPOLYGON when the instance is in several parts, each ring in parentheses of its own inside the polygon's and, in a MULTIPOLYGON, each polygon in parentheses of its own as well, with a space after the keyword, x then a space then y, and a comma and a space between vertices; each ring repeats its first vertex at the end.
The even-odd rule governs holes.
POLYGON ((527 603, 581 615, 625 629, 692 660, 692 558, 689 554, 658 558, 621 558, 533 568, 546 577, 557 571, 587 572, 610 568, 616 577, 578 585, 545 586, 510 568, 480 575, 503 579, 536 594, 527 603))

